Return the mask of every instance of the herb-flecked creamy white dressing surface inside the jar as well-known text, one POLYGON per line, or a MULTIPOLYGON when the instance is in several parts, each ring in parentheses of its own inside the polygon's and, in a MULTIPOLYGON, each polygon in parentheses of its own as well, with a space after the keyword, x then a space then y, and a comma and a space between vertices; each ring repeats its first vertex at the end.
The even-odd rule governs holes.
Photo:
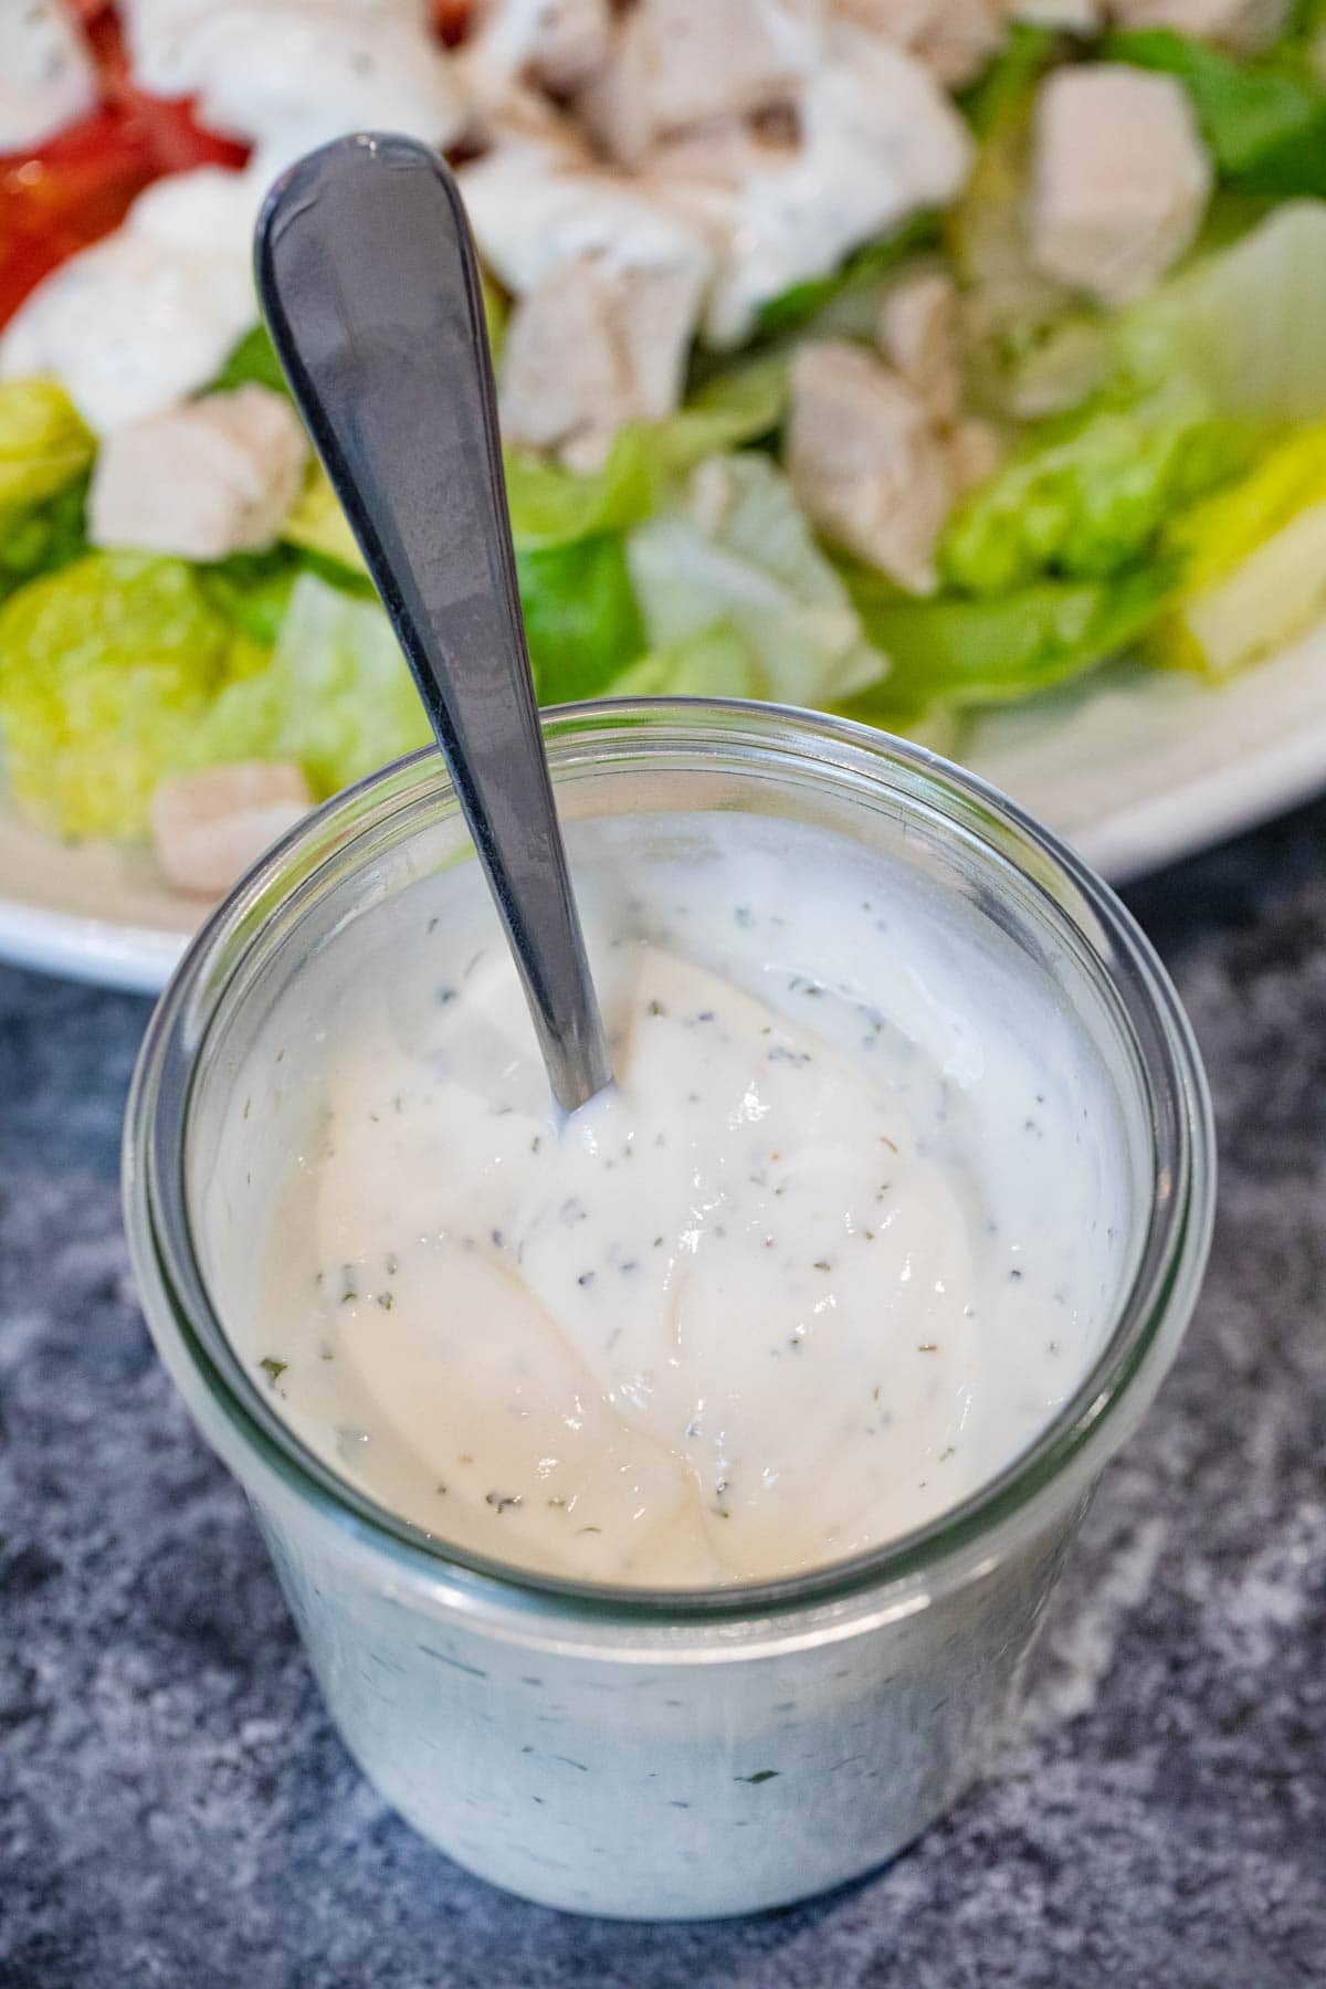
POLYGON ((1109 1327, 1133 1183, 1010 941, 825 831, 666 819, 571 837, 610 1092, 555 1124, 465 863, 360 921, 320 1026, 254 1052, 205 1227, 225 1263, 294 1100, 256 1303, 213 1279, 294 1430, 461 1547, 708 1585, 1008 1464, 1109 1327))

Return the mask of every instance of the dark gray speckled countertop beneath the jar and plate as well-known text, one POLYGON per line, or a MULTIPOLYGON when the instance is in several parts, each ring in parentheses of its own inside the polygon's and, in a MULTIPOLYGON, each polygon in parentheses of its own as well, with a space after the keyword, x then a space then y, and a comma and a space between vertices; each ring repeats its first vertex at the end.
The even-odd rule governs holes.
POLYGON ((879 1876, 692 1927, 509 1899, 360 1780, 133 1299, 147 1006, 0 969, 0 1985, 1326 1983, 1326 806, 1131 901, 1207 1054, 1221 1219, 1022 1732, 879 1876))

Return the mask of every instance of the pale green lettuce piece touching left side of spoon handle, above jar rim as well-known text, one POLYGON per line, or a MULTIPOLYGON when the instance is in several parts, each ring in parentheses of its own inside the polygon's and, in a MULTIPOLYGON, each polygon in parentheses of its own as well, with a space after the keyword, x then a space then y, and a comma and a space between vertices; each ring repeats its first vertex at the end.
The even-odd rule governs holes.
POLYGON ((384 611, 302 573, 270 664, 221 692, 191 760, 294 760, 322 798, 429 738, 384 611))

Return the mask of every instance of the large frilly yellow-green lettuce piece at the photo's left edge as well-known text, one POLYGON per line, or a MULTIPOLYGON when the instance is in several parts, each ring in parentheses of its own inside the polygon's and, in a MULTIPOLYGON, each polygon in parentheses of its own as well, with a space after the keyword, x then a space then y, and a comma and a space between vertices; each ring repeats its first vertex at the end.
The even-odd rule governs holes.
POLYGON ((235 633, 175 559, 89 553, 0 611, 0 732, 18 808, 58 835, 137 837, 235 666, 235 633))

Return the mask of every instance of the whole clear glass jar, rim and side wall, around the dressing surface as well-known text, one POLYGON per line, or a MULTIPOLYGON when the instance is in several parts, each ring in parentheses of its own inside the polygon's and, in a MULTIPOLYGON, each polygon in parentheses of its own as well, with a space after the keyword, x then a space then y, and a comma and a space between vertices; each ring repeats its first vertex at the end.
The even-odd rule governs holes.
MULTIPOLYGON (((1113 1331, 998 1478, 855 1563, 696 1593, 580 1587, 451 1549, 338 1478, 237 1358, 205 1275, 217 1237, 201 1219, 233 1223, 237 1261, 256 1255, 254 1219, 205 1195, 249 1048, 272 1016, 298 1024, 310 963, 370 907, 473 859, 439 758, 388 768, 286 837, 167 989, 125 1132, 143 1305, 252 1500, 364 1772, 443 1852, 527 1898, 626 1917, 753 1911, 893 1856, 1002 1736, 1091 1486, 1195 1303, 1209 1100, 1175 993, 1121 905, 946 762, 749 704, 573 706, 545 730, 569 821, 749 810, 833 827, 960 893, 1056 983, 1137 1156, 1113 1331)), ((270 1207, 262 1181, 247 1205, 270 1207)))

